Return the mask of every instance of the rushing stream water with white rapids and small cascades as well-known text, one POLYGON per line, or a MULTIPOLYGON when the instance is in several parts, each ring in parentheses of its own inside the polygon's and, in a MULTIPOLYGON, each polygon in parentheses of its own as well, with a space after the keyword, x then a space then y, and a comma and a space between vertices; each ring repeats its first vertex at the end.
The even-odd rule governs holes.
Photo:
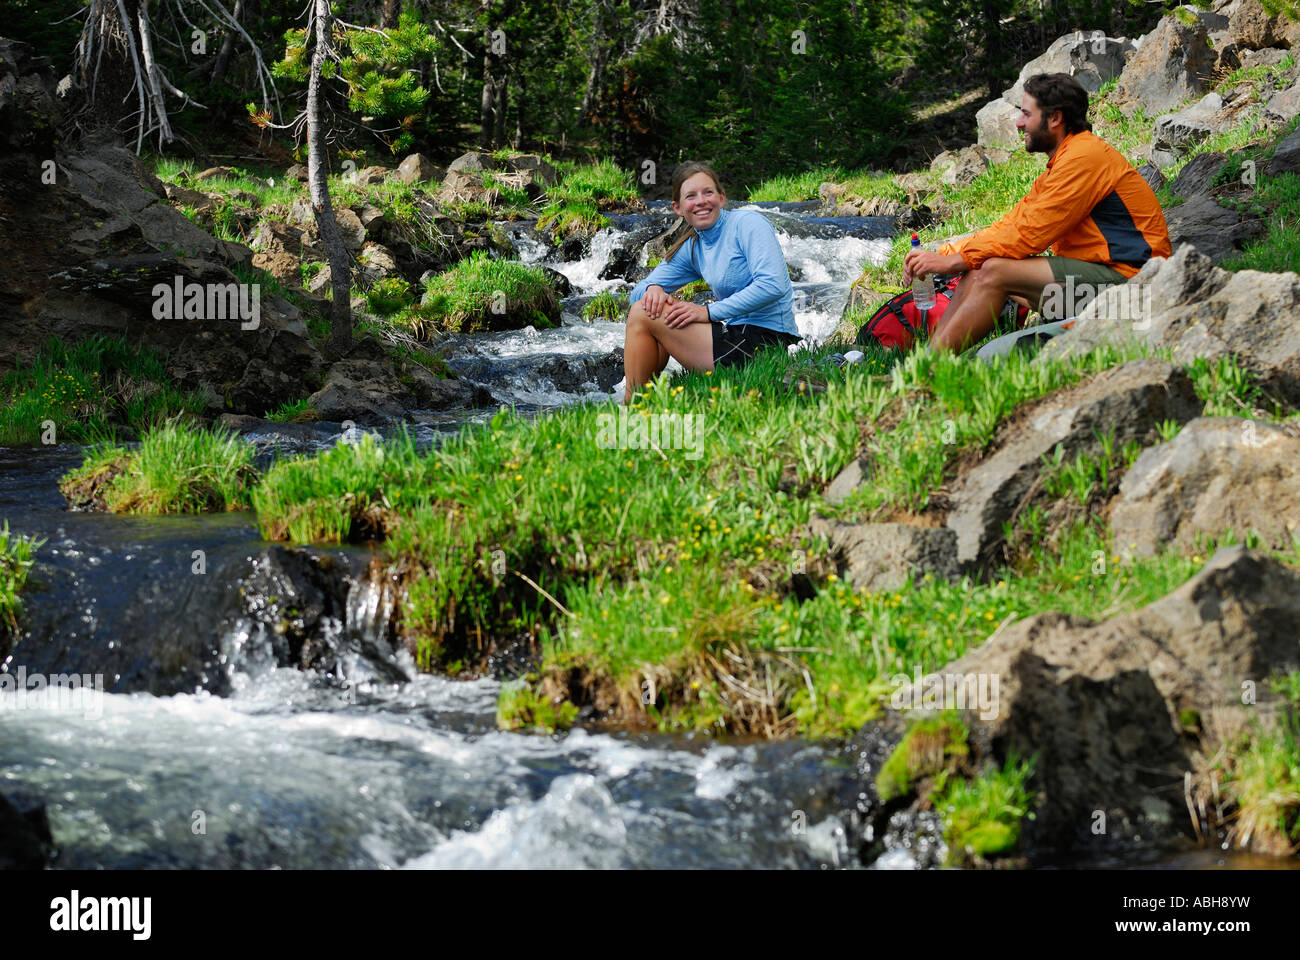
MULTIPOLYGON (((884 256, 887 225, 762 208, 798 276, 800 329, 820 340, 862 261, 884 256)), ((627 286, 601 277, 611 255, 668 222, 662 207, 616 217, 571 263, 517 234, 521 259, 571 281, 563 325, 454 338, 450 364, 530 415, 607 399, 621 327, 584 323, 581 304, 627 286)), ((491 412, 413 423, 434 441, 491 412)), ((263 459, 338 440, 330 424, 250 436, 263 459)), ((57 479, 79 462, 75 446, 0 449, 0 516, 46 540, 4 667, 94 678, 57 700, 0 688, 0 793, 44 803, 56 866, 909 869, 942 856, 933 814, 872 835, 870 744, 498 731, 498 680, 420 675, 394 648, 393 597, 365 550, 269 545, 239 514, 68 513, 57 479)))

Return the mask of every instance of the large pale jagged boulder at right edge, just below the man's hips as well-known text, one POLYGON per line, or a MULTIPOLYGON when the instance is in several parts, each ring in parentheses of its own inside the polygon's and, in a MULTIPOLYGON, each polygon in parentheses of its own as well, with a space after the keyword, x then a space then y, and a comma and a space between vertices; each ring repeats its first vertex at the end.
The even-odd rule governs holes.
POLYGON ((1079 323, 1043 347, 1040 358, 1127 341, 1169 347, 1175 363, 1235 355, 1264 390, 1300 406, 1296 315, 1295 273, 1228 273, 1184 245, 1169 259, 1148 261, 1128 284, 1104 290, 1080 311, 1079 323))

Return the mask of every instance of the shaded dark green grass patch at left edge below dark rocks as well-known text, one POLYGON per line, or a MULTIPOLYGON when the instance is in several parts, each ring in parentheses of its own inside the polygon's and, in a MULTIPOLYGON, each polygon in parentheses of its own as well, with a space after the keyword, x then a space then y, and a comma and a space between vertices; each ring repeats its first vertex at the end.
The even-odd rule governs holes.
POLYGON ((100 336, 78 343, 49 340, 30 363, 0 379, 0 444, 95 441, 122 427, 139 433, 178 415, 199 414, 203 401, 172 384, 146 347, 100 336))

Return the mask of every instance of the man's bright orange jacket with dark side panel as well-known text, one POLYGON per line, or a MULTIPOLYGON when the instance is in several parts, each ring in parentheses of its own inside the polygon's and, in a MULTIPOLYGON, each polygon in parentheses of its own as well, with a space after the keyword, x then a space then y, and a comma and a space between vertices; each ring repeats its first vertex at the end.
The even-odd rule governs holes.
POLYGON ((940 254, 961 254, 967 269, 1004 256, 1023 260, 1048 247, 1134 276, 1169 256, 1169 226, 1156 194, 1123 155, 1091 130, 1069 134, 1015 208, 940 254))

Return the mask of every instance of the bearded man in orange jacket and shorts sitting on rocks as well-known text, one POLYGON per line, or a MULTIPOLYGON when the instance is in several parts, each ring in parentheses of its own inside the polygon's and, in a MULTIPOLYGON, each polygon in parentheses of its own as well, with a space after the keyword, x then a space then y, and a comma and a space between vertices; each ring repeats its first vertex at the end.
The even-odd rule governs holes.
MULTIPOLYGON (((904 284, 918 274, 966 274, 935 330, 940 349, 965 350, 987 336, 1008 297, 1041 311, 1044 299, 1061 302, 1061 287, 1123 284, 1150 258, 1171 252, 1156 194, 1092 133, 1088 94, 1078 81, 1063 73, 1030 77, 1015 126, 1027 151, 1048 155, 1024 199, 972 237, 937 251, 913 250, 904 260, 904 284), (1056 256, 1037 256, 1048 247, 1056 256)), ((1083 306, 1066 303, 1066 315, 1083 306)))

